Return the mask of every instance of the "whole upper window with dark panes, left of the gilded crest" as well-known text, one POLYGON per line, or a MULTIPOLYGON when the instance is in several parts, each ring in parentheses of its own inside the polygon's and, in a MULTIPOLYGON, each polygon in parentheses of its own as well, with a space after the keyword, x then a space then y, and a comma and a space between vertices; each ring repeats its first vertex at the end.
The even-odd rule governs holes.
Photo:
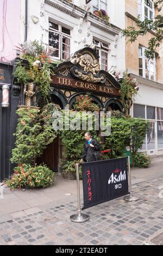
POLYGON ((49 21, 49 50, 55 59, 70 59, 70 29, 49 21))

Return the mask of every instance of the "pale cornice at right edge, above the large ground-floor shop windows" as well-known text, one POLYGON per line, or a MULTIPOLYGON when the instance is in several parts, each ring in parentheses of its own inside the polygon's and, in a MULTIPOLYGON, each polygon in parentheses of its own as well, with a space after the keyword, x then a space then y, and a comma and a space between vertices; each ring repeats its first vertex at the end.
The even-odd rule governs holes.
POLYGON ((160 90, 163 90, 163 84, 162 83, 158 83, 152 80, 149 80, 147 78, 141 77, 141 76, 137 76, 134 74, 129 74, 130 77, 136 78, 137 82, 142 84, 143 86, 148 86, 148 87, 153 87, 153 88, 157 88, 160 90))

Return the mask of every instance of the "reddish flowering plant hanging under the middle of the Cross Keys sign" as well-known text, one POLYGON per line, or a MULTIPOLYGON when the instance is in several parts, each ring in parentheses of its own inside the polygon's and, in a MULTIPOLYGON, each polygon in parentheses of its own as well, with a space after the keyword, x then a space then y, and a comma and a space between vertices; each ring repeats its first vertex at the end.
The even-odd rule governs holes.
POLYGON ((80 95, 76 97, 74 102, 74 110, 76 111, 99 111, 99 106, 93 102, 89 95, 80 95))

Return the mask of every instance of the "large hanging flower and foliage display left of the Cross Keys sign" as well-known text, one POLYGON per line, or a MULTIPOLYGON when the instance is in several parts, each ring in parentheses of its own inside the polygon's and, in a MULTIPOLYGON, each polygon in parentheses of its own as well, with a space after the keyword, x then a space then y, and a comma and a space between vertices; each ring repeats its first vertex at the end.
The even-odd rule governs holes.
POLYGON ((21 47, 17 47, 21 51, 21 60, 17 63, 14 77, 18 83, 27 83, 33 81, 39 86, 39 91, 43 100, 48 102, 50 97, 51 75, 53 74, 53 66, 51 60, 51 52, 43 47, 42 42, 30 41, 24 42, 21 47), (28 67, 24 67, 23 60, 26 60, 28 67))

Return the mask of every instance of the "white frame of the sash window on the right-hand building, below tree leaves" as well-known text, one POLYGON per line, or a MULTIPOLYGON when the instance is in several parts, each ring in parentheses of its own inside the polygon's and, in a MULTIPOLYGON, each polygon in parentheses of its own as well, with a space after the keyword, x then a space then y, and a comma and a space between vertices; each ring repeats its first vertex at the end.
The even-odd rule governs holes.
POLYGON ((141 48, 141 51, 142 51, 142 55, 140 55, 140 51, 139 51, 139 60, 142 59, 142 68, 140 68, 140 65, 139 65, 139 76, 140 75, 140 70, 142 70, 142 76, 143 78, 146 78, 146 79, 149 79, 151 81, 156 81, 156 58, 154 59, 149 59, 145 57, 145 50, 147 50, 146 47, 143 47, 143 46, 139 46, 139 50, 141 48), (150 66, 149 66, 149 70, 146 69, 146 61, 148 62, 148 65, 150 63, 150 66), (154 66, 154 72, 152 72, 152 65, 151 63, 153 64, 154 66), (146 72, 149 72, 149 78, 146 77, 146 72), (151 79, 151 76, 154 76, 154 79, 151 79))

